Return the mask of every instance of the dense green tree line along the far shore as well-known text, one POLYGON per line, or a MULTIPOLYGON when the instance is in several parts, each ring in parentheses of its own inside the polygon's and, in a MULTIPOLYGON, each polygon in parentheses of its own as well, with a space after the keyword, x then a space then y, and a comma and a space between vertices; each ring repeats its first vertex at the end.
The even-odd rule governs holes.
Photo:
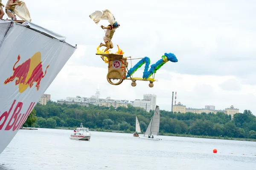
MULTIPOLYGON (((105 130, 135 131, 135 115, 140 122, 142 133, 148 127, 154 110, 146 112, 140 107, 105 107, 77 104, 57 104, 48 101, 47 105, 36 104, 23 126, 44 128, 84 127, 105 130)), ((214 113, 180 113, 160 110, 160 134, 190 134, 233 138, 256 139, 256 116, 250 110, 231 115, 223 112, 214 113)))

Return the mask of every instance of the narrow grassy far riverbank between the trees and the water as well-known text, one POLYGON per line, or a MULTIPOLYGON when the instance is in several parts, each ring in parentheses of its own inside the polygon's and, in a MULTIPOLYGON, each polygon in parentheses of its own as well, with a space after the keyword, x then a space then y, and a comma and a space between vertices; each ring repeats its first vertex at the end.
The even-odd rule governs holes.
MULTIPOLYGON (((76 129, 76 127, 56 127, 56 129, 73 130, 73 129, 76 129)), ((105 130, 100 128, 90 129, 90 131, 112 132, 112 133, 134 133, 134 132, 131 132, 130 130, 105 130)), ((204 136, 204 135, 173 134, 173 133, 159 133, 159 135, 179 136, 179 137, 189 137, 189 138, 224 139, 224 140, 234 140, 234 141, 256 141, 256 139, 250 139, 250 138, 232 138, 232 137, 222 137, 222 136, 204 136)))

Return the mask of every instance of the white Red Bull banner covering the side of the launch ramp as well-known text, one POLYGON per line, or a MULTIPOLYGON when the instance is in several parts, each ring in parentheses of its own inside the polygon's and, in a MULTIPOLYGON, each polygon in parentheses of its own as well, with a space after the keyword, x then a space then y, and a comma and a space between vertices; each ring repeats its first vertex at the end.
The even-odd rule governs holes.
MULTIPOLYGON (((7 22, 0 22, 0 37, 7 22)), ((0 45, 0 153, 75 50, 18 23, 9 29, 0 45)))

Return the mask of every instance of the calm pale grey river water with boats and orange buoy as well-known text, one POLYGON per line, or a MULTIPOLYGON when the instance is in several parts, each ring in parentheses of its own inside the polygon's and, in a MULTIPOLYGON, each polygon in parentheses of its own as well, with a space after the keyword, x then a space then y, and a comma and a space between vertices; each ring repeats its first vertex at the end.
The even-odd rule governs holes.
POLYGON ((1 170, 241 170, 256 168, 256 142, 91 132, 90 141, 69 138, 73 130, 19 130, 0 154, 1 170), (217 154, 212 153, 216 148, 217 154), (233 153, 233 154, 231 154, 233 153), (243 155, 244 154, 244 155, 243 155))

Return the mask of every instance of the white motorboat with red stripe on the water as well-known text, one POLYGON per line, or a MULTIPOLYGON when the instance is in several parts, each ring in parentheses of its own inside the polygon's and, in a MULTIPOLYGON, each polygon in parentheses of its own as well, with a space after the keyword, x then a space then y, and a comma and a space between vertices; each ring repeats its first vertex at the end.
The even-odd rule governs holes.
POLYGON ((90 140, 89 129, 84 128, 83 123, 81 123, 80 127, 76 128, 73 134, 70 135, 70 139, 89 141, 90 140))

